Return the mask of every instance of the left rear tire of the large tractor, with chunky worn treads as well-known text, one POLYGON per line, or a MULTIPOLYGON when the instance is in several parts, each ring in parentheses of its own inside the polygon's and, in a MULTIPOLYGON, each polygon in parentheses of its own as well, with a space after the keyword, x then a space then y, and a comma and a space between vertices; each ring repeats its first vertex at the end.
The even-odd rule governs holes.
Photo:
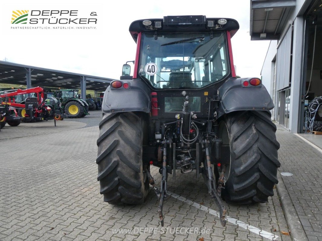
POLYGON ((142 162, 145 121, 133 112, 105 114, 99 130, 97 180, 104 201, 143 203, 149 191, 142 162))

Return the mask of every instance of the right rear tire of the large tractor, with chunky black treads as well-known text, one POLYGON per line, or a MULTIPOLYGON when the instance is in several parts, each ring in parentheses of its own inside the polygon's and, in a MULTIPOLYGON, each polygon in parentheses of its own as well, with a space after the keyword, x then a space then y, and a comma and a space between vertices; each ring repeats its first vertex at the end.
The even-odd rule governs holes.
POLYGON ((263 203, 273 196, 280 166, 275 132, 268 111, 232 112, 220 123, 219 136, 223 144, 230 144, 231 154, 222 192, 225 201, 263 203))

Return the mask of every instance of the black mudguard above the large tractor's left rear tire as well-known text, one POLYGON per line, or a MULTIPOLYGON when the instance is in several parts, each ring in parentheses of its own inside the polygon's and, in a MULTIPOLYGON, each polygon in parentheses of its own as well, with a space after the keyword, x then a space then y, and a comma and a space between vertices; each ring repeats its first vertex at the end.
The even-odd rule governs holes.
POLYGON ((104 93, 102 111, 111 112, 129 112, 141 111, 150 112, 151 91, 142 80, 120 80, 123 83, 129 83, 130 88, 114 89, 110 86, 104 93))

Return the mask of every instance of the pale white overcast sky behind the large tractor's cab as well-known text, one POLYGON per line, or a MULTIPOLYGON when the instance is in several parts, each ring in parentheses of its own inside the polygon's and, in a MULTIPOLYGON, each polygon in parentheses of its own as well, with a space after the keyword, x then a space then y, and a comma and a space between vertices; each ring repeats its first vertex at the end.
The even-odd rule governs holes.
MULTIPOLYGON (((167 15, 206 15, 234 18, 240 24, 232 38, 237 75, 260 77, 269 46, 268 40, 251 41, 250 0, 214 1, 98 1, 98 0, 15 0, 0 2, 0 60, 119 78, 122 65, 134 60, 136 44, 128 32, 137 19, 163 18, 167 15), (78 10, 78 17, 93 18, 96 29, 11 29, 11 27, 53 26, 53 24, 11 24, 13 10, 78 10)), ((67 25, 67 24, 66 24, 67 25)), ((55 25, 56 26, 56 25, 55 25)), ((62 25, 59 25, 62 26, 62 25)))

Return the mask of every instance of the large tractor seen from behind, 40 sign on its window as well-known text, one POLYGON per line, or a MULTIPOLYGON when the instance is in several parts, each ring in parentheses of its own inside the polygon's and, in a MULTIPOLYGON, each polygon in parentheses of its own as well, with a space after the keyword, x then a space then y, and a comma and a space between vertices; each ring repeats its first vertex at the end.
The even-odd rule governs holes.
POLYGON ((153 186, 162 212, 167 178, 176 170, 202 174, 226 224, 228 203, 267 202, 280 166, 274 105, 258 78, 236 78, 234 19, 166 16, 138 20, 134 74, 123 66, 102 103, 97 140, 104 201, 144 202, 153 186), (159 167, 158 188, 150 165, 159 167))

